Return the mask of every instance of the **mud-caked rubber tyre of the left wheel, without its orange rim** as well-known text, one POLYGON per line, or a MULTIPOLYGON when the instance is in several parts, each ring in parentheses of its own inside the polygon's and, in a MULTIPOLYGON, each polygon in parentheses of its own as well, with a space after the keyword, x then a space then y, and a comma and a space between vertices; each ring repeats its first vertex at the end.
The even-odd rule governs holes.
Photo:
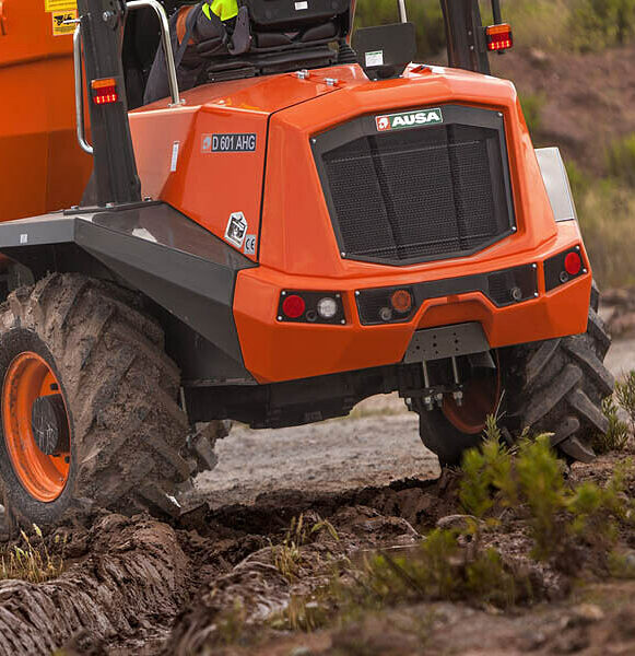
POLYGON ((71 424, 69 478, 52 503, 26 492, 0 440, 12 517, 46 526, 94 506, 174 513, 170 495, 190 475, 179 455, 187 436, 176 402, 180 374, 139 297, 56 273, 12 293, 0 306, 0 379, 19 353, 38 353, 60 382, 71 424))

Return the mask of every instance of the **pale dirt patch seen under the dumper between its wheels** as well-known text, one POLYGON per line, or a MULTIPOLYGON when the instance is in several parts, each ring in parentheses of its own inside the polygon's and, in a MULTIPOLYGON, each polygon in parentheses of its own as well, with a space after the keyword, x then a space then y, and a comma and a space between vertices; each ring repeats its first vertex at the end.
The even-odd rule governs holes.
POLYGON ((196 481, 212 507, 254 503, 280 490, 344 492, 439 473, 419 438, 416 414, 397 395, 368 399, 343 420, 266 431, 235 426, 216 453, 216 469, 196 481))

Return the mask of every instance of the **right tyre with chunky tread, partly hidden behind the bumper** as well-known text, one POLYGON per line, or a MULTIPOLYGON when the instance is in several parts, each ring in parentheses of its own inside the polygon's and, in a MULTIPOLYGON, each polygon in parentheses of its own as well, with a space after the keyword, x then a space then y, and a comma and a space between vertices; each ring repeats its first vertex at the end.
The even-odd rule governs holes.
MULTIPOLYGON (((595 436, 609 427, 602 400, 614 387, 614 378, 603 364, 611 338, 597 313, 598 301, 593 286, 586 333, 497 352, 498 391, 492 396, 487 412, 470 424, 471 430, 462 424, 459 429, 456 420, 448 419, 456 417, 456 408, 449 412, 447 400, 443 409, 415 408, 421 438, 442 466, 459 466, 463 452, 481 444, 487 413, 499 418, 498 425, 510 442, 527 429, 531 434, 549 432, 553 433, 553 446, 569 462, 595 458, 595 436)), ((482 388, 478 383, 475 387, 482 388)), ((469 399, 466 401, 469 405, 469 399)))

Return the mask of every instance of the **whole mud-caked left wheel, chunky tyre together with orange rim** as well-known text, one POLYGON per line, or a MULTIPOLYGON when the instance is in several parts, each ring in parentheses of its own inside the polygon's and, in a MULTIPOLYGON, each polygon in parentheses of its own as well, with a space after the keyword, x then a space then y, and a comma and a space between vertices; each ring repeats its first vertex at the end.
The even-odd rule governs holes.
POLYGON ((0 306, 0 476, 19 525, 105 507, 175 516, 189 479, 180 373, 140 297, 54 273, 0 306))

